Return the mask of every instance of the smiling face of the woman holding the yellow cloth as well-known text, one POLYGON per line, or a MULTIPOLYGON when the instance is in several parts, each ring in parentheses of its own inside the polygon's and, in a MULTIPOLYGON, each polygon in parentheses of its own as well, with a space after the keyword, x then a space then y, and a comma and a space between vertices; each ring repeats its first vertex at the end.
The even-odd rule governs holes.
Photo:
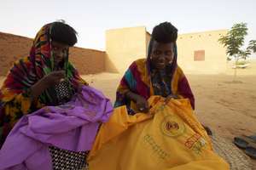
POLYGON ((150 62, 155 69, 165 69, 167 65, 172 63, 174 56, 173 46, 173 42, 153 42, 153 47, 150 54, 150 62))

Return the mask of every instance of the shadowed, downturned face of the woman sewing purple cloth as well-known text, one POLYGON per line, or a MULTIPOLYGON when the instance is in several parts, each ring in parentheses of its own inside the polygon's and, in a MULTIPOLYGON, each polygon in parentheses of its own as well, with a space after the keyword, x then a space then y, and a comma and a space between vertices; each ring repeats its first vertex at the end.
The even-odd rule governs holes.
POLYGON ((51 42, 52 53, 55 61, 55 68, 63 68, 64 59, 67 56, 69 46, 61 42, 51 42))

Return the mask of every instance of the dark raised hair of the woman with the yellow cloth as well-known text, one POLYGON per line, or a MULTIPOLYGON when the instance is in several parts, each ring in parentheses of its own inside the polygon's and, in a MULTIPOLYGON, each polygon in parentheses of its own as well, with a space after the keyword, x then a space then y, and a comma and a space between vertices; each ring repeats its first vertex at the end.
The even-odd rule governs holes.
POLYGON ((177 28, 172 26, 170 22, 163 22, 158 26, 154 26, 151 36, 156 42, 176 42, 177 28))

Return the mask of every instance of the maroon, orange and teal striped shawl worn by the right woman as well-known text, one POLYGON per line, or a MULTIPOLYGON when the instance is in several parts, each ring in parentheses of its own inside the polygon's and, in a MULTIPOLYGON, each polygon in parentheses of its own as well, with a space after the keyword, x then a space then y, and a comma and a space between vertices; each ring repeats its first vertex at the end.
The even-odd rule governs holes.
POLYGON ((145 99, 152 95, 177 95, 179 98, 188 98, 193 109, 195 108, 195 99, 189 82, 182 69, 177 66, 177 53, 163 74, 155 73, 154 69, 150 68, 149 59, 137 59, 125 71, 116 92, 114 107, 126 105, 128 111, 133 114, 138 110, 133 101, 125 98, 127 91, 139 94, 145 99))

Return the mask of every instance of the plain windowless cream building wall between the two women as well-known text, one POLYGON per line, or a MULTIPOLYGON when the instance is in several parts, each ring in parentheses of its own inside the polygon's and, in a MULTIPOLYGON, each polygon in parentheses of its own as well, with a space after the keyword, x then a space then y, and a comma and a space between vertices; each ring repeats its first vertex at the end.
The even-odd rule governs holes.
POLYGON ((123 74, 131 63, 146 56, 146 28, 106 31, 106 71, 123 74))

